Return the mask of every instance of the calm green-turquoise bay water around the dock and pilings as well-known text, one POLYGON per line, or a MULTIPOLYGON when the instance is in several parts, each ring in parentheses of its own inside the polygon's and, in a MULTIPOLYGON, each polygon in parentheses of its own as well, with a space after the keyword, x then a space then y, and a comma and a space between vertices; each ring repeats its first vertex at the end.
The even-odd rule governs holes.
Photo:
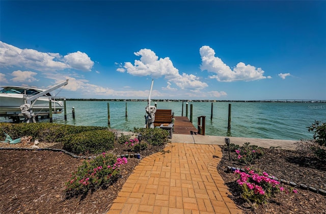
MULTIPOLYGON (((109 101, 111 128, 123 131, 145 124, 147 102, 109 101), (127 103, 128 117, 125 117, 127 103)), ((232 104, 231 135, 233 137, 298 140, 311 139, 308 132, 315 120, 326 122, 326 103, 292 102, 214 102, 213 118, 210 120, 211 102, 188 102, 193 104, 193 124, 197 117, 206 116, 206 135, 226 136, 228 105, 232 104)), ((151 103, 154 105, 154 102, 151 103)), ((185 102, 183 116, 185 116, 185 102)), ((157 102, 157 109, 172 109, 181 116, 182 102, 157 102)), ((1 121, 4 121, 3 118, 1 121)), ((43 119, 42 121, 48 121, 43 119)), ((53 115, 53 122, 70 125, 107 126, 107 101, 67 101, 67 121, 64 114, 53 115), (72 107, 75 119, 72 119, 72 107)))

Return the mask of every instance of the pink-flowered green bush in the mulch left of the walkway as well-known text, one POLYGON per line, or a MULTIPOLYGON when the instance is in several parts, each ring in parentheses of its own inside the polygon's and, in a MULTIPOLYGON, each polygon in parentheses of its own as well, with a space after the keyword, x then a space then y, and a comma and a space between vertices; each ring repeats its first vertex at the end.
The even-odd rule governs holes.
POLYGON ((119 167, 127 164, 127 158, 117 158, 104 152, 91 161, 84 161, 77 171, 72 173, 66 182, 67 198, 87 195, 98 188, 105 188, 115 182, 119 176, 119 167))

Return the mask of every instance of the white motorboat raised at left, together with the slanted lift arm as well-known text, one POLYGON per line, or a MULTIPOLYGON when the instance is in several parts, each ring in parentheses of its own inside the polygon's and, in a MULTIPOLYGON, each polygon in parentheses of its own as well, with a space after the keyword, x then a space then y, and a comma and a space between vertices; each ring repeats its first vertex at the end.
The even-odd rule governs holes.
POLYGON ((68 84, 68 80, 47 89, 38 89, 20 86, 0 86, 0 116, 8 117, 13 121, 19 121, 21 114, 20 106, 26 103, 31 104, 35 116, 48 116, 49 100, 53 113, 61 113, 64 109, 63 101, 55 100, 50 94, 51 91, 68 84), (33 102, 32 102, 33 101, 33 102))

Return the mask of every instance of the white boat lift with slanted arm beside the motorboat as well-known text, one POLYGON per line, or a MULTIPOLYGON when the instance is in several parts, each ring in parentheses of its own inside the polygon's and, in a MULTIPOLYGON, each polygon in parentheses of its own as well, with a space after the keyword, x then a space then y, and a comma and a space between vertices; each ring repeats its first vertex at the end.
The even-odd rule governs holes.
POLYGON ((57 85, 54 85, 52 87, 49 87, 47 90, 38 93, 34 96, 29 96, 29 95, 24 95, 24 100, 25 100, 25 104, 20 105, 20 110, 21 110, 21 114, 25 117, 24 122, 26 123, 36 123, 35 121, 35 114, 33 113, 33 105, 35 104, 35 102, 37 101, 37 98, 53 91, 56 90, 60 87, 63 87, 65 85, 68 84, 68 79, 66 79, 66 81, 59 83, 57 85))

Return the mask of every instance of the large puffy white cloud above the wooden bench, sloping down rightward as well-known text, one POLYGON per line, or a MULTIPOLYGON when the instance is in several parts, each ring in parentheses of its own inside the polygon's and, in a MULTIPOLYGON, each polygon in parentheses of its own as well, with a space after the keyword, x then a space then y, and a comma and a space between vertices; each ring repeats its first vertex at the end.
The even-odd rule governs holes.
MULTIPOLYGON (((179 70, 173 66, 169 57, 158 59, 158 56, 151 49, 141 49, 134 52, 134 55, 141 57, 141 59, 134 60, 133 64, 131 62, 126 62, 124 65, 117 63, 120 66, 117 71, 127 71, 131 75, 151 76, 153 78, 164 76, 170 84, 174 83, 181 89, 201 90, 208 87, 206 83, 201 82, 199 77, 193 74, 179 74, 179 70)), ((166 89, 169 89, 169 84, 166 89)))

